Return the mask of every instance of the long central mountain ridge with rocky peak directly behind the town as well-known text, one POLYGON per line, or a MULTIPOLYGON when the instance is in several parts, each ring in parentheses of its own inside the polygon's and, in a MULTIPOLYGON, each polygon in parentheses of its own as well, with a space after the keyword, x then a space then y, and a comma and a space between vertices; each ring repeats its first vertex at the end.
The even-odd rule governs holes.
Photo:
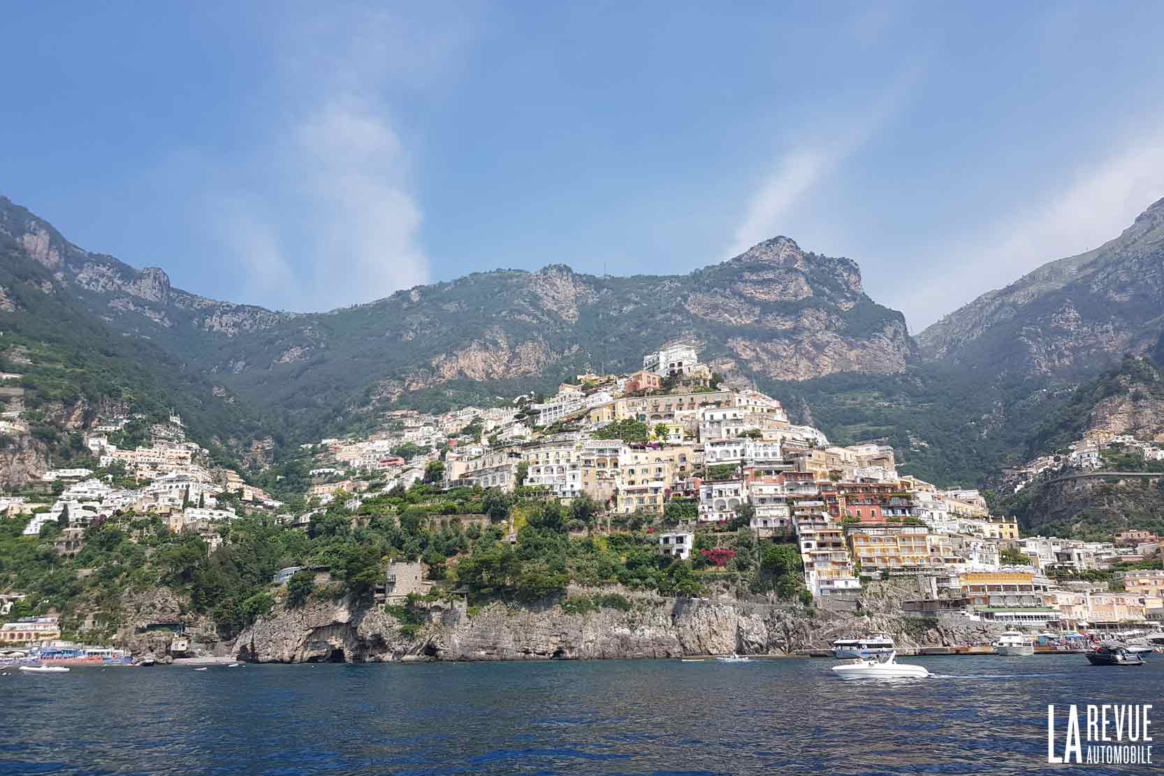
POLYGON ((175 289, 161 269, 78 248, 3 198, 0 234, 92 316, 297 436, 368 422, 388 406, 494 401, 588 368, 633 370, 675 340, 743 379, 885 375, 918 361, 903 316, 868 298, 854 262, 787 237, 684 276, 596 277, 551 264, 284 313, 175 289))

